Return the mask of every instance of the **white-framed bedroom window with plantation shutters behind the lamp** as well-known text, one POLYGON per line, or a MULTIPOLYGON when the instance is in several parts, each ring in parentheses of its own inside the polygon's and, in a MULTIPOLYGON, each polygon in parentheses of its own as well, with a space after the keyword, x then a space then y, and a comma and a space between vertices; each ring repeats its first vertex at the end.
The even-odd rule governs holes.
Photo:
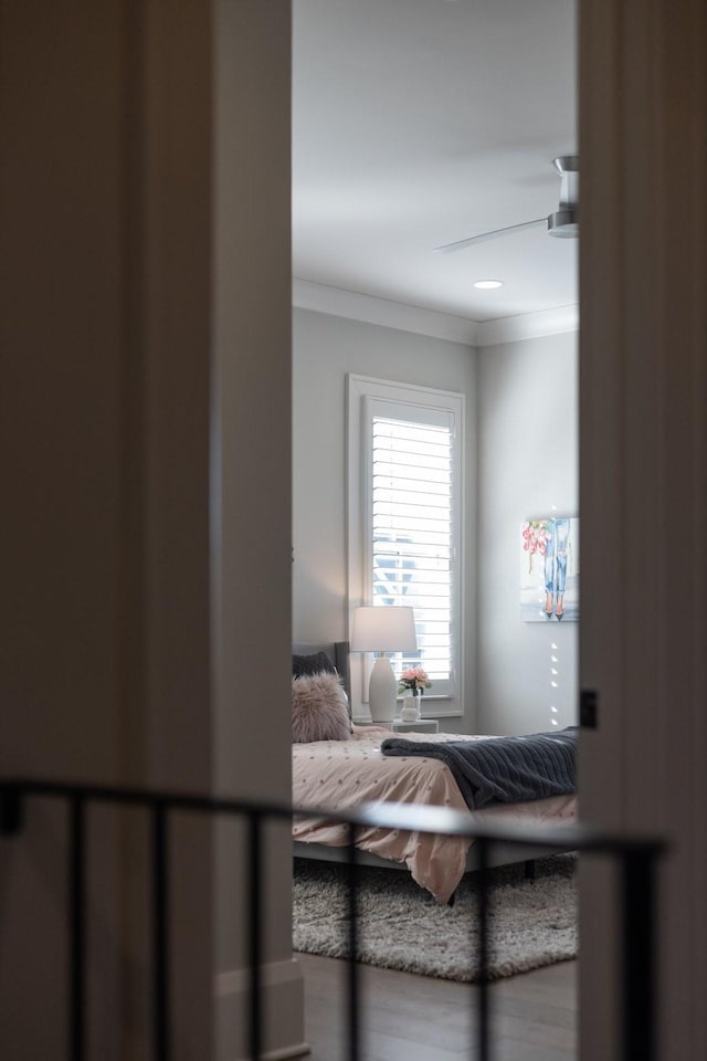
POLYGON ((462 395, 349 376, 349 603, 414 609, 418 650, 391 662, 428 672, 428 715, 461 714, 463 412, 462 395))

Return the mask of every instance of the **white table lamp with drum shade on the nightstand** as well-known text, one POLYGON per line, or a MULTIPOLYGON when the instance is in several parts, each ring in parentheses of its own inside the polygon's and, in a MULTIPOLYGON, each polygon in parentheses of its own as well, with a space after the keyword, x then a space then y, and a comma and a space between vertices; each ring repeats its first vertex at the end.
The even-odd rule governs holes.
POLYGON ((377 652, 368 686, 373 722, 392 722, 398 682, 387 652, 414 652, 418 648, 412 608, 365 606, 354 610, 351 652, 377 652))

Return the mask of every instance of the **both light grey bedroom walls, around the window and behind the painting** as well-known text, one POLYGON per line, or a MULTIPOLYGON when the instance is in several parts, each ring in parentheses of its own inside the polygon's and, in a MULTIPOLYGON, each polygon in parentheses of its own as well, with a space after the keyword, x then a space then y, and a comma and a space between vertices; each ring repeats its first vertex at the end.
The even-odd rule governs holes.
POLYGON ((467 401, 465 710, 443 726, 528 733, 573 724, 579 623, 520 621, 518 533, 553 506, 578 514, 577 370, 576 333, 473 350, 295 309, 295 639, 348 635, 347 372, 457 390, 467 401))

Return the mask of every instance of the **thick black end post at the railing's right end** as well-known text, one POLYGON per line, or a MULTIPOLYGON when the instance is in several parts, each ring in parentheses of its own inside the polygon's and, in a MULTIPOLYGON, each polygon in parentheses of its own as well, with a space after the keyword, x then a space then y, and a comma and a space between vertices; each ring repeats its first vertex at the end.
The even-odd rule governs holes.
POLYGON ((650 851, 625 851, 623 901, 623 1057, 653 1061, 655 1047, 655 864, 650 851))

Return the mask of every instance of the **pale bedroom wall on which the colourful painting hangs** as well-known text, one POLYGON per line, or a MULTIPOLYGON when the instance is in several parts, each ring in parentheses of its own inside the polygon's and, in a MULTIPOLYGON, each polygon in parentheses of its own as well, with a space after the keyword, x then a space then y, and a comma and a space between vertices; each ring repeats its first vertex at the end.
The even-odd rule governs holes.
POLYGON ((577 372, 577 333, 478 351, 483 733, 531 733, 553 722, 577 722, 579 623, 521 622, 518 606, 521 521, 555 511, 578 514, 577 372))

